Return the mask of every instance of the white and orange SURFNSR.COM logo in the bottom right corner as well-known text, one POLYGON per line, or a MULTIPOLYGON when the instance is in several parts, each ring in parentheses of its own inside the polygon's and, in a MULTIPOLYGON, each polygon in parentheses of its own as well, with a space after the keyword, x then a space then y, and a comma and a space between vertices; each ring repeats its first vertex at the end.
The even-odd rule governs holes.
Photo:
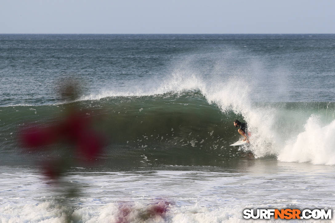
POLYGON ((243 217, 245 219, 331 219, 332 210, 328 209, 305 209, 300 211, 299 209, 245 209, 243 211, 243 217))

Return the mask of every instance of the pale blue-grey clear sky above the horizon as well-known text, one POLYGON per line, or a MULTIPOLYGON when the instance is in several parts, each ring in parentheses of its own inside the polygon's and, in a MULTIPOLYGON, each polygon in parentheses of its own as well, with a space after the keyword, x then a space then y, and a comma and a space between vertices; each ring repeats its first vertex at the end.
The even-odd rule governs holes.
POLYGON ((0 33, 335 33, 335 0, 0 0, 0 33))

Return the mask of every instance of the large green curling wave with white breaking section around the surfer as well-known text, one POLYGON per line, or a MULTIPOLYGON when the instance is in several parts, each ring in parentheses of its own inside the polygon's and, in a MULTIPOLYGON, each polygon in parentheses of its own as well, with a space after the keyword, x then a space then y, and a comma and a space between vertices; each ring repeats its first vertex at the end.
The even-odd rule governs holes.
POLYGON ((94 128, 107 136, 109 144, 99 159, 110 165, 234 165, 251 156, 335 164, 329 146, 334 143, 334 102, 244 104, 223 95, 224 90, 210 96, 189 90, 2 107, 1 159, 29 162, 60 154, 66 145, 53 145, 51 153, 42 150, 37 156, 18 152, 22 149, 17 134, 29 123, 43 126, 60 121, 68 107, 75 106, 87 111, 86 116, 95 120, 94 128), (248 123, 250 145, 229 146, 240 138, 232 125, 236 119, 248 123))

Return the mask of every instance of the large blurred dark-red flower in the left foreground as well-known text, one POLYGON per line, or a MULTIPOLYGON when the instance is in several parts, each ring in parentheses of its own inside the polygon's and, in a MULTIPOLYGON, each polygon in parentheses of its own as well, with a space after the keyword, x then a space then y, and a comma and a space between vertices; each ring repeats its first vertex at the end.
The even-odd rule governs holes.
MULTIPOLYGON (((72 110, 60 121, 28 126, 20 131, 20 141, 30 152, 46 150, 48 146, 55 143, 67 143, 71 145, 70 152, 72 151, 77 157, 83 157, 86 161, 95 161, 102 152, 106 140, 102 134, 93 129, 92 118, 86 114, 87 111, 72 110)), ((61 176, 62 172, 70 168, 69 163, 72 162, 69 160, 68 151, 57 152, 57 155, 58 157, 50 156, 49 161, 43 165, 45 166, 44 175, 50 179, 61 176)))

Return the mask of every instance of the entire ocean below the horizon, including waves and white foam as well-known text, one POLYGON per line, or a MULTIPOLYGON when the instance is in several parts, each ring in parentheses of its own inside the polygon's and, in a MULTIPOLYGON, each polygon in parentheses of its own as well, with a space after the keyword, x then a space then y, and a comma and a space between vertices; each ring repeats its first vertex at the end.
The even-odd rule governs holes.
POLYGON ((335 34, 0 34, 0 80, 0 222, 335 214, 335 34))

